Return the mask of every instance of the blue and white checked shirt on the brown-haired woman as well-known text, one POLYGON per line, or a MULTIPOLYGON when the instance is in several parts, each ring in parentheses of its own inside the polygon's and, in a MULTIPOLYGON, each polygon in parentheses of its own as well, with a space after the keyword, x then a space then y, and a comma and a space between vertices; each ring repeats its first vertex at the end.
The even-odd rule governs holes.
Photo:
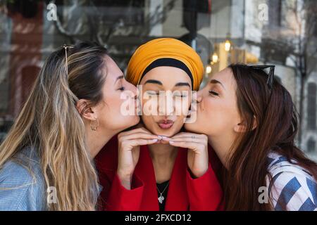
POLYGON ((317 211, 317 183, 313 176, 296 161, 290 163, 277 153, 270 153, 268 160, 272 179, 267 177, 267 186, 274 210, 317 211))

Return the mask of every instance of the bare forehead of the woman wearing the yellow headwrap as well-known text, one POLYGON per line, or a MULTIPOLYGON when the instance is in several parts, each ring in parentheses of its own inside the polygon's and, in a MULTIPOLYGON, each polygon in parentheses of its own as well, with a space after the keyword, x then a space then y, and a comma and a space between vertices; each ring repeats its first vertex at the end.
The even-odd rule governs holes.
POLYGON ((192 86, 192 81, 184 70, 171 66, 153 68, 144 75, 140 84, 144 84, 149 79, 156 79, 166 87, 175 86, 175 84, 179 82, 187 82, 190 86, 192 86))

